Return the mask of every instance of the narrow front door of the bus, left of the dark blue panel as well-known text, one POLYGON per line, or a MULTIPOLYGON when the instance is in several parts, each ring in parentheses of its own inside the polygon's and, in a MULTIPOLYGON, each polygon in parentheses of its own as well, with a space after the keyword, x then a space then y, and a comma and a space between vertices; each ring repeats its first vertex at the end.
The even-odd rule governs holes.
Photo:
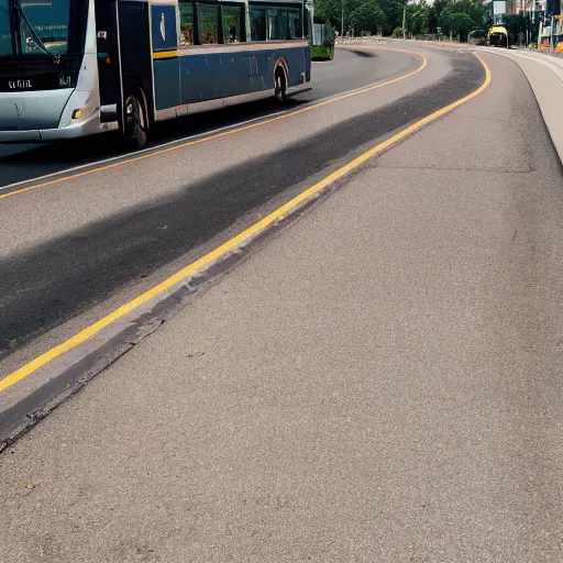
POLYGON ((100 119, 119 120, 121 107, 121 69, 117 0, 96 1, 96 35, 100 84, 100 119))

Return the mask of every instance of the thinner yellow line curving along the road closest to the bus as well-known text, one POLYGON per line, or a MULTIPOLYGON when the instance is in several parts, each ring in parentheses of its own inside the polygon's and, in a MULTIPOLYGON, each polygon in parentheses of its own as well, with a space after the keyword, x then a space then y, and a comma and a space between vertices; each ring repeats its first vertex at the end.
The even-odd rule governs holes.
MULTIPOLYGON (((274 123, 276 121, 282 121, 283 119, 294 118, 296 115, 300 115, 300 114, 306 113, 308 111, 312 111, 312 110, 316 110, 318 108, 323 108, 324 106, 329 106, 330 103, 335 103, 338 101, 345 100, 347 98, 351 98, 352 96, 360 96, 361 93, 371 92, 373 90, 377 90, 377 89, 383 88, 385 86, 390 86, 391 84, 399 82, 401 80, 405 80, 406 78, 410 78, 411 76, 415 76, 416 74, 420 73, 428 65, 428 60, 426 59, 426 57, 423 55, 421 55, 420 53, 416 53, 415 51, 398 49, 398 48, 387 48, 387 47, 374 47, 374 48, 378 48, 380 51, 393 51, 393 52, 397 52, 397 53, 407 53, 409 55, 413 55, 413 56, 419 57, 422 60, 422 64, 416 70, 411 70, 410 73, 408 73, 406 75, 402 75, 402 76, 399 76, 397 78, 394 78, 393 80, 387 80, 386 82, 380 82, 380 84, 376 84, 374 86, 368 86, 367 88, 363 88, 363 89, 354 91, 354 92, 345 93, 345 95, 340 96, 338 98, 331 98, 330 100, 321 101, 319 103, 316 103, 314 106, 309 106, 308 108, 302 108, 300 110, 291 111, 289 113, 284 113, 283 115, 277 115, 276 118, 272 118, 272 119, 268 119, 268 120, 265 120, 265 121, 261 121, 260 123, 252 123, 250 125, 244 125, 244 126, 239 128, 239 129, 232 129, 230 131, 223 131, 222 133, 217 133, 214 135, 206 136, 205 139, 198 139, 197 141, 188 141, 187 143, 181 143, 179 145, 169 146, 167 148, 162 148, 159 151, 154 151, 152 153, 143 154, 141 156, 134 156, 132 158, 126 158, 125 161, 120 161, 118 163, 108 164, 106 166, 100 166, 99 168, 93 168, 93 169, 90 169, 90 170, 80 172, 78 174, 73 174, 70 176, 63 176, 60 178, 55 178, 53 180, 44 181, 42 184, 36 184, 35 186, 29 186, 26 188, 22 188, 22 189, 15 190, 15 191, 10 191, 8 194, 2 194, 2 195, 0 195, 0 200, 1 199, 7 199, 7 198, 11 198, 13 196, 19 196, 20 194, 25 194, 27 191, 33 191, 33 190, 36 190, 36 189, 46 188, 48 186, 54 186, 55 184, 62 184, 64 181, 69 181, 69 180, 78 179, 78 178, 84 178, 85 176, 91 176, 92 174, 98 174, 100 172, 106 172, 106 170, 110 170, 112 168, 118 168, 119 166, 125 166, 125 165, 129 165, 129 164, 137 163, 137 162, 144 161, 146 158, 152 158, 154 156, 159 156, 159 155, 163 155, 163 154, 172 153, 174 151, 179 151, 180 148, 187 148, 187 147, 190 147, 190 146, 196 146, 196 145, 200 145, 202 143, 207 143, 209 141, 214 141, 217 139, 222 139, 224 136, 234 135, 236 133, 243 133, 244 131, 250 131, 250 130, 253 130, 253 129, 262 128, 264 125, 268 125, 269 123, 274 123)), ((96 164, 93 164, 93 166, 96 166, 96 164)))

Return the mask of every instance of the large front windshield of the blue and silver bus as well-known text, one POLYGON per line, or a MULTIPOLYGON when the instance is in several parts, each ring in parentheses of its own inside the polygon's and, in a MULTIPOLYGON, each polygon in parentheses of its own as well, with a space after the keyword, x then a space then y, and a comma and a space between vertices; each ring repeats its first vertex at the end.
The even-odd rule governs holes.
POLYGON ((71 0, 0 0, 0 56, 71 52, 71 0))

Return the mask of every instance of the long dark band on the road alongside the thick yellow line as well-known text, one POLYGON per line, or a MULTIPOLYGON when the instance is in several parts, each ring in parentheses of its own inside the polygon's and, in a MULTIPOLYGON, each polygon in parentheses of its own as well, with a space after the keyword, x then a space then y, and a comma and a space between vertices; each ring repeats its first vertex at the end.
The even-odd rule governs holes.
MULTIPOLYGON (((455 63, 442 81, 343 121, 338 135, 323 131, 275 154, 187 180, 173 198, 155 198, 0 261, 0 358, 219 235, 312 175, 332 172, 349 155, 474 91, 483 82, 483 67, 474 57, 455 63)), ((168 139, 175 139, 175 128, 181 129, 180 123, 170 126, 168 139)))

